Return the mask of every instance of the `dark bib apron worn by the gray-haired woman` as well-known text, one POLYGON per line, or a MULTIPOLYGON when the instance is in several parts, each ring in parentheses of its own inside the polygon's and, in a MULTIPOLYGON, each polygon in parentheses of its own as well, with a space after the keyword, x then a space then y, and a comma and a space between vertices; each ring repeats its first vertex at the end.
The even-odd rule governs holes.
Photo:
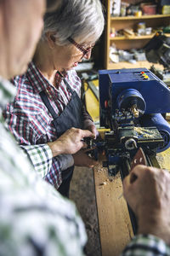
MULTIPOLYGON (((60 137, 65 131, 71 127, 81 128, 83 127, 83 114, 82 114, 82 102, 76 91, 71 89, 70 84, 64 79, 67 89, 71 92, 71 101, 65 106, 63 112, 58 115, 54 112, 54 108, 51 106, 48 96, 45 91, 40 92, 42 102, 48 108, 49 113, 53 117, 54 127, 57 133, 57 137, 60 137)), ((62 171, 62 183, 59 186, 58 191, 61 195, 69 197, 69 189, 71 183, 71 177, 74 171, 74 166, 62 171)))

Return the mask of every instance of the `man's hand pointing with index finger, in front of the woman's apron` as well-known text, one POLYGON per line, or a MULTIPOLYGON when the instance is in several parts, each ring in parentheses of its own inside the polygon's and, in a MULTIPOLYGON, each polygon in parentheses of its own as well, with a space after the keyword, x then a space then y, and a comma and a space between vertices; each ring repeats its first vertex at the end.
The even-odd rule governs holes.
POLYGON ((71 128, 53 143, 48 143, 53 156, 58 154, 75 154, 81 148, 86 148, 87 144, 82 141, 84 137, 93 137, 93 133, 88 130, 71 128))

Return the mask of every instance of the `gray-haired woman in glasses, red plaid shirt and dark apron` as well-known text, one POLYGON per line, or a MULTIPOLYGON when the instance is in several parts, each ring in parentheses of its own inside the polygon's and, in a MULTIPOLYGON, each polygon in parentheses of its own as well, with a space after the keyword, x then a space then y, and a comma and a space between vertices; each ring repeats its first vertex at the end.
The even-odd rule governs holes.
MULTIPOLYGON (((99 0, 63 0, 58 11, 45 15, 33 61, 23 76, 14 78, 17 96, 4 113, 21 145, 53 143, 71 127, 88 129, 96 137, 93 120, 82 107, 74 67, 90 58, 103 28, 99 0)), ((94 164, 83 151, 60 154, 45 179, 68 196, 73 166, 94 164)))

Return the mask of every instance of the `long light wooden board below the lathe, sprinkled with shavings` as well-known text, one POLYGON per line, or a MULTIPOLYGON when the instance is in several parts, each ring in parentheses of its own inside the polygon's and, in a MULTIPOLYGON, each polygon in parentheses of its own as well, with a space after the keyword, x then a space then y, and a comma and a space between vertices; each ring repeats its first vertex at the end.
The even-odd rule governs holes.
POLYGON ((102 256, 120 255, 133 237, 127 203, 122 195, 120 173, 109 177, 101 163, 94 168, 102 256))

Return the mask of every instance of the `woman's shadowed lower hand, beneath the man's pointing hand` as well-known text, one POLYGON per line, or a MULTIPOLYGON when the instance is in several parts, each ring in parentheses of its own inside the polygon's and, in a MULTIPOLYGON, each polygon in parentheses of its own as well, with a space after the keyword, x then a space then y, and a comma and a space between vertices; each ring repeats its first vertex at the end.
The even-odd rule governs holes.
POLYGON ((93 168, 98 162, 93 158, 89 157, 88 154, 86 154, 85 152, 86 150, 80 150, 77 152, 77 154, 72 155, 74 158, 74 164, 75 166, 86 166, 89 168, 93 168))

